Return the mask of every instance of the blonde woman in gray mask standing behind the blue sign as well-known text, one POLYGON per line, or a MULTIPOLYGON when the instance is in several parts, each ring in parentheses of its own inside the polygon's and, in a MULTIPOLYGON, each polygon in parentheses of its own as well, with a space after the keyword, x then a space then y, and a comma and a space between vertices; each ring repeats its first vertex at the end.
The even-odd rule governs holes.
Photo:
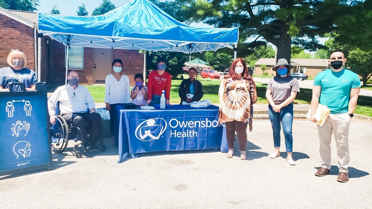
MULTIPOLYGON (((26 91, 35 90, 36 74, 33 70, 25 68, 27 59, 21 49, 12 49, 7 62, 9 67, 0 68, 0 90, 9 89, 10 82, 21 82, 25 84, 26 91)), ((22 90, 22 87, 15 85, 13 91, 22 90)))

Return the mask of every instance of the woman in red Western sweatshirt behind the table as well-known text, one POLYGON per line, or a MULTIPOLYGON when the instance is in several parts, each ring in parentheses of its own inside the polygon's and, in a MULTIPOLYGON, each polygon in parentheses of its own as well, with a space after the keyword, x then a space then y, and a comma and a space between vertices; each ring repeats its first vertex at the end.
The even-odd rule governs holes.
POLYGON ((171 75, 167 73, 165 68, 167 64, 163 59, 157 61, 158 70, 151 71, 148 75, 147 92, 148 100, 147 103, 150 106, 160 104, 161 93, 165 90, 166 105, 169 105, 169 94, 171 86, 171 75))

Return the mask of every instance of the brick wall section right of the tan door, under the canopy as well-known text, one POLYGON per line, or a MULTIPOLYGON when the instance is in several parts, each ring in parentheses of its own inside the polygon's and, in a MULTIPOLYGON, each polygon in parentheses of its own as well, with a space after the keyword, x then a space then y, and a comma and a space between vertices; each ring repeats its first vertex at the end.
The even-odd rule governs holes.
POLYGON ((138 50, 113 49, 112 60, 120 59, 123 62, 123 71, 129 77, 130 86, 134 86, 134 75, 143 74, 144 55, 138 50))

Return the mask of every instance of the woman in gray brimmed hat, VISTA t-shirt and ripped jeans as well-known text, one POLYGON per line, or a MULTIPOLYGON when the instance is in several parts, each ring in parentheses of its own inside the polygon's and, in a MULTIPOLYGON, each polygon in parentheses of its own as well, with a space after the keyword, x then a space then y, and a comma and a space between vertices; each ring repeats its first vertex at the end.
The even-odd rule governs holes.
POLYGON ((291 69, 293 65, 288 64, 286 59, 279 59, 273 71, 276 76, 270 78, 266 88, 266 99, 269 102, 269 118, 273 128, 273 138, 275 152, 270 154, 270 158, 280 156, 280 123, 282 123, 287 151, 287 162, 295 165, 292 158, 292 122, 293 122, 293 100, 300 92, 298 81, 293 78, 291 69))

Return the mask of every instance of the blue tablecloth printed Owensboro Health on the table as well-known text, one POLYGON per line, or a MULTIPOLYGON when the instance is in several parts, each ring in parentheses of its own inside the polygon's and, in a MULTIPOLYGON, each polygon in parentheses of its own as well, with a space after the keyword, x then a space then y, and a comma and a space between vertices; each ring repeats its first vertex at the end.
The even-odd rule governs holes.
POLYGON ((214 105, 173 105, 151 110, 117 106, 116 115, 118 163, 142 152, 212 148, 228 151, 225 128, 218 123, 218 107, 214 105))

